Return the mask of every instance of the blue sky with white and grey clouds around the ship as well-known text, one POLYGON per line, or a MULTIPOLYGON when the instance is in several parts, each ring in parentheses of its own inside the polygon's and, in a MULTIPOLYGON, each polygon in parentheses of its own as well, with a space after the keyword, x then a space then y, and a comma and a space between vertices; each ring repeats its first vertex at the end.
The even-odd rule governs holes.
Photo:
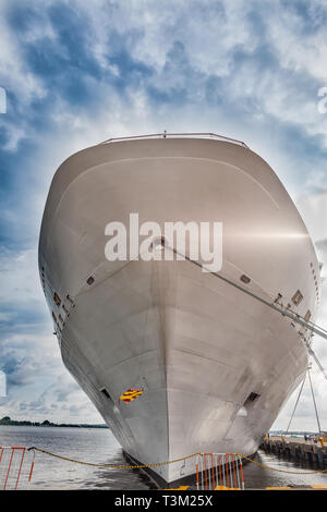
MULTIPOLYGON (((102 423, 63 366, 37 269, 49 185, 76 150, 164 130, 244 141, 284 184, 327 276, 326 28, 324 0, 0 1, 0 417, 102 423)), ((316 321, 327 329, 327 281, 316 321)), ((327 367, 327 340, 314 348, 327 367)), ((315 363, 312 378, 327 430, 315 363)), ((307 386, 291 428, 317 428, 307 386)))

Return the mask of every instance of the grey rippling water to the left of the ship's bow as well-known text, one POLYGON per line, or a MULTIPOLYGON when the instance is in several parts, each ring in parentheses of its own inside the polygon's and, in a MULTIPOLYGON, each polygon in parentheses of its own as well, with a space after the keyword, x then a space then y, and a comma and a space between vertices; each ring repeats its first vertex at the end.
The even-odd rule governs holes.
MULTIPOLYGON (((122 449, 107 428, 0 426, 0 446, 38 447, 78 461, 123 464, 122 449)), ((28 465, 29 468, 29 465, 28 465)), ((156 489, 140 470, 99 468, 36 453, 31 489, 156 489)))

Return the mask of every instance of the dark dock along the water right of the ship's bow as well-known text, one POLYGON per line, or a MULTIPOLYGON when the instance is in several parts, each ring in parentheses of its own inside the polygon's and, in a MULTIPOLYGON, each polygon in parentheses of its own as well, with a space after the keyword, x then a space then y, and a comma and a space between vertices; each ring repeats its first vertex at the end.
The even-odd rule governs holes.
POLYGON ((261 447, 265 452, 278 456, 316 465, 319 470, 327 470, 327 441, 314 442, 303 437, 269 436, 261 447))

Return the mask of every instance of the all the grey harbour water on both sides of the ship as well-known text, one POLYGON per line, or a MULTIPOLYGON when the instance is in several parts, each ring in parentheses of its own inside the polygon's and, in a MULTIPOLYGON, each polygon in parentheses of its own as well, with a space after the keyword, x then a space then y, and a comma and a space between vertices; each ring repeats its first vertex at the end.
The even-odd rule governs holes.
MULTIPOLYGON (((126 464, 122 449, 109 429, 0 426, 0 446, 39 447, 59 455, 86 462, 126 464)), ((304 475, 314 471, 294 462, 279 460, 259 451, 257 462, 286 471, 290 475, 262 468, 252 463, 244 466, 245 488, 264 489, 289 485, 326 485, 327 473, 304 475)), ((1 464, 0 464, 1 466, 1 464)), ((23 481, 22 481, 23 484, 23 481)), ((32 483, 20 488, 31 489, 156 489, 142 470, 113 470, 83 466, 37 453, 32 483)))

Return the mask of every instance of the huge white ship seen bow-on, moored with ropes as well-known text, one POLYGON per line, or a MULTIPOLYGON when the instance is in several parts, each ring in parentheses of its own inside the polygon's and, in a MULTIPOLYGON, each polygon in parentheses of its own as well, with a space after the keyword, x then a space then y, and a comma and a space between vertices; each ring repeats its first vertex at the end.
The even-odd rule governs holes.
POLYGON ((194 453, 255 453, 305 376, 310 331, 267 304, 312 321, 319 264, 281 181, 242 142, 165 132, 72 155, 48 194, 39 273, 64 366, 160 481, 193 475, 194 453), (109 260, 106 225, 135 212, 221 222, 219 271, 187 254, 109 260))

